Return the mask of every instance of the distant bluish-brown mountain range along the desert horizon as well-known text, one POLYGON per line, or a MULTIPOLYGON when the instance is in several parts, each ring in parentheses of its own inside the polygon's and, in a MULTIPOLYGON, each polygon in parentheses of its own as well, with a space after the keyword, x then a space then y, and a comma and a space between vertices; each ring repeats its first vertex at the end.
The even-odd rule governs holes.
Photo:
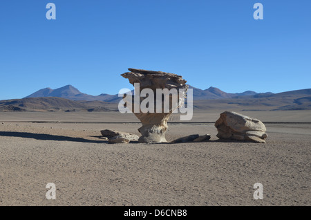
MULTIPOLYGON (((215 87, 194 91, 194 111, 311 110, 311 89, 283 93, 225 93, 215 87)), ((118 111, 118 95, 88 95, 74 86, 40 89, 22 99, 1 100, 0 111, 118 111)))

